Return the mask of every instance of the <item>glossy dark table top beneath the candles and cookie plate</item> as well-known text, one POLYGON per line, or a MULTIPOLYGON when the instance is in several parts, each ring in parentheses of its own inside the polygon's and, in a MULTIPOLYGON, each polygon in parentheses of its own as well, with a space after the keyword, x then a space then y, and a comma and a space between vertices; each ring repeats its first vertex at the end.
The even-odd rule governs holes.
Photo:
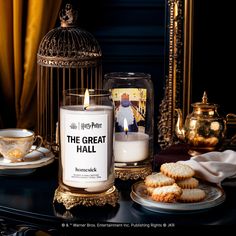
MULTIPOLYGON (((155 156, 154 168, 167 161, 188 159, 185 150, 162 152, 155 156)), ((46 231, 49 235, 66 234, 68 230, 126 228, 127 230, 163 230, 192 227, 236 225, 236 181, 222 186, 225 201, 219 206, 200 212, 166 214, 152 212, 133 202, 131 186, 135 181, 116 180, 119 202, 116 207, 75 207, 65 211, 53 204, 58 187, 57 160, 26 176, 0 177, 0 230, 2 235, 12 232, 46 231), (5 234, 4 234, 5 233, 5 234)))

